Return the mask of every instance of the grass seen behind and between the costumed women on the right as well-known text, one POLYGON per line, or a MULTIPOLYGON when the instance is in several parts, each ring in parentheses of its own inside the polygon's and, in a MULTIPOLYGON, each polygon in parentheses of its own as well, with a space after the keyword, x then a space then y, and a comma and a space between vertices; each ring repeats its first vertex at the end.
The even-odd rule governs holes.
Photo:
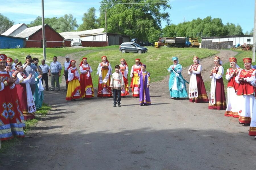
MULTIPOLYGON (((237 59, 237 64, 241 69, 244 69, 244 64, 243 64, 243 58, 245 57, 249 57, 252 58, 252 51, 242 51, 241 49, 238 50, 233 50, 238 52, 238 54, 235 56, 235 58, 237 59)), ((256 62, 252 63, 252 65, 256 65, 256 62)), ((223 74, 223 82, 224 82, 224 87, 225 87, 225 92, 227 94, 227 85, 228 85, 228 80, 226 80, 225 75, 226 75, 226 71, 228 68, 230 68, 230 63, 225 63, 224 65, 222 65, 224 68, 224 74, 223 74)), ((207 81, 205 82, 205 88, 206 90, 210 91, 210 87, 211 87, 211 82, 207 81)))

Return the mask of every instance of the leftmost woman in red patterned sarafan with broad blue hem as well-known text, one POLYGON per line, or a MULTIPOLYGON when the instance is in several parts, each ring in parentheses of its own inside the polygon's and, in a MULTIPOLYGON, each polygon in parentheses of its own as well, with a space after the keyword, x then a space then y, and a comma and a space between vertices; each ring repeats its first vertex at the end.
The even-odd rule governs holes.
POLYGON ((15 105, 15 99, 12 96, 12 90, 15 87, 17 79, 11 72, 5 71, 7 56, 0 54, 0 140, 8 140, 13 136, 24 137, 18 105, 15 105))

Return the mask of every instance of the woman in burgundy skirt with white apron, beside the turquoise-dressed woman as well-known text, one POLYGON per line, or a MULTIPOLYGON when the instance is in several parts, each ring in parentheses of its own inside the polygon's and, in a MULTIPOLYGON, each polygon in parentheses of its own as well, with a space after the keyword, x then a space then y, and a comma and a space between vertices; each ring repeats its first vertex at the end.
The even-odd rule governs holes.
POLYGON ((193 65, 187 71, 190 77, 189 81, 189 101, 194 103, 208 103, 208 96, 205 90, 205 84, 201 76, 202 66, 199 64, 199 58, 193 57, 193 65))

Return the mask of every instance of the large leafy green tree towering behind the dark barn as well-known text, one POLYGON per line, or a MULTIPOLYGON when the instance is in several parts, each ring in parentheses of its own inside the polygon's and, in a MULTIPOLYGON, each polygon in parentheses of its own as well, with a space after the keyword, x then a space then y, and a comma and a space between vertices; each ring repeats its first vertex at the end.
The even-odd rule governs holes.
POLYGON ((156 41, 162 20, 170 22, 169 13, 165 10, 171 7, 167 3, 168 0, 102 0, 100 25, 105 27, 106 8, 108 32, 126 34, 138 41, 156 41))

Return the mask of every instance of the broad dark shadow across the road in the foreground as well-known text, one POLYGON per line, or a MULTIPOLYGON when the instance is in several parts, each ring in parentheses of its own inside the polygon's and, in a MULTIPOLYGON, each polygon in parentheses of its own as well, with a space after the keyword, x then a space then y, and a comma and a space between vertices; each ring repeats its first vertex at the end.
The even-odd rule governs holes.
POLYGON ((251 161, 256 158, 256 146, 247 147, 255 143, 253 137, 249 138, 247 133, 215 130, 143 128, 117 133, 77 130, 73 133, 41 133, 36 139, 20 140, 23 142, 15 148, 15 156, 1 154, 2 170, 254 169, 251 161), (238 138, 245 138, 243 146, 236 140, 238 138), (51 152, 45 150, 46 147, 51 152), (239 155, 243 155, 239 157, 239 163, 230 162, 230 156, 239 155))

